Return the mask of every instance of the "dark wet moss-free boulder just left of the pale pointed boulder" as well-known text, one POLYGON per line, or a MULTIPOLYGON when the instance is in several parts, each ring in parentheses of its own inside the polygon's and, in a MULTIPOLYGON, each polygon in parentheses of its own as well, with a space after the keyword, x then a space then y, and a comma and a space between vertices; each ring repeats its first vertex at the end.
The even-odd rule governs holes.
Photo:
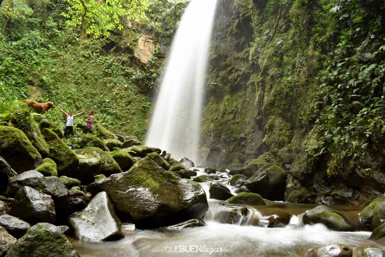
POLYGON ((12 214, 30 224, 38 222, 55 222, 55 203, 49 195, 29 186, 23 186, 15 195, 12 203, 12 214))

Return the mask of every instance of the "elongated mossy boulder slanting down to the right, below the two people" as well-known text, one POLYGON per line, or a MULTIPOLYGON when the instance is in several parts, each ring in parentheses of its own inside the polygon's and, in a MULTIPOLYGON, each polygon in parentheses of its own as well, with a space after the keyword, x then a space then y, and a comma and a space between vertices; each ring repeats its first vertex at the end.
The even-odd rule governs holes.
POLYGON ((54 132, 47 128, 41 129, 45 141, 49 146, 48 157, 55 161, 59 176, 72 177, 77 172, 79 159, 67 144, 65 144, 54 132))

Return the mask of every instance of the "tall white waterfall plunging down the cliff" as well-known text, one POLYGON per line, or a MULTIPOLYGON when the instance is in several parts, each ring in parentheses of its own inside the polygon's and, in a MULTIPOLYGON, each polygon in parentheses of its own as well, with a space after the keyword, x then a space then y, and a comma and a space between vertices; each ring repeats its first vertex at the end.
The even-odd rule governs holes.
POLYGON ((206 63, 217 0, 191 0, 172 42, 146 145, 198 158, 206 63))

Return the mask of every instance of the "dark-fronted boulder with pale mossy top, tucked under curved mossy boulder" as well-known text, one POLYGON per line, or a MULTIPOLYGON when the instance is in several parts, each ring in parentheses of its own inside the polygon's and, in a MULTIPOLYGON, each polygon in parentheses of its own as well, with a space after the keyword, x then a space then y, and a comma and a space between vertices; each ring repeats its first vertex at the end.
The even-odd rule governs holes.
POLYGON ((94 181, 94 176, 99 174, 102 160, 90 155, 77 155, 79 159, 79 167, 74 178, 82 181, 84 184, 89 184, 94 181))

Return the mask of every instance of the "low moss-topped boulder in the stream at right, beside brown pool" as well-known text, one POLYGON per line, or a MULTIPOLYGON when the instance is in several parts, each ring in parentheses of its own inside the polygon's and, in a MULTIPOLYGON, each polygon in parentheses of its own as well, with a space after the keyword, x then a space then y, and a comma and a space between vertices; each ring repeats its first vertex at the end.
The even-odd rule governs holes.
POLYGON ((319 205, 303 215, 303 223, 313 225, 322 223, 326 227, 335 231, 352 231, 353 226, 348 223, 341 215, 334 210, 319 205))

